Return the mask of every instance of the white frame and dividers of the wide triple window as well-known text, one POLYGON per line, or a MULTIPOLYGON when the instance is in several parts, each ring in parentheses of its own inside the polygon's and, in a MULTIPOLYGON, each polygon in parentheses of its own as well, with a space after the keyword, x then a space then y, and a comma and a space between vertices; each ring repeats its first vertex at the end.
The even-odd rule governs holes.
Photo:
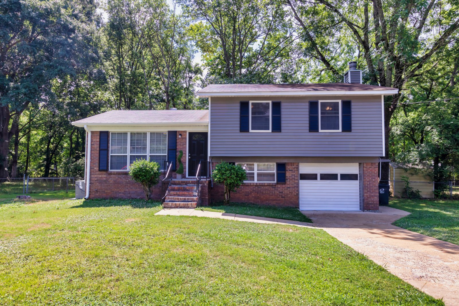
MULTIPOLYGON (((139 157, 146 157, 147 160, 150 160, 151 156, 164 156, 165 159, 167 160, 167 149, 168 149, 168 132, 166 131, 163 131, 163 132, 147 132, 147 131, 139 131, 139 132, 110 132, 110 148, 109 148, 109 161, 108 161, 108 164, 109 164, 109 171, 129 171, 129 165, 131 164, 130 163, 130 159, 131 159, 131 156, 139 156, 139 157), (131 133, 135 133, 135 134, 141 134, 141 133, 146 133, 146 150, 141 150, 141 152, 131 152, 131 133), (113 145, 113 139, 112 139, 112 135, 114 134, 119 134, 119 136, 121 136, 121 139, 123 144, 118 148, 118 150, 116 150, 115 148, 112 148, 112 145, 113 145), (158 152, 157 149, 155 150, 155 152, 151 152, 151 143, 150 143, 150 140, 151 140, 151 134, 155 134, 155 137, 157 136, 157 134, 161 134, 161 139, 159 139, 159 141, 161 142, 161 146, 163 147, 165 145, 164 148, 160 148, 160 151, 158 152), (127 136, 127 139, 124 140, 126 138, 126 135, 127 136), (165 139, 162 139, 164 138, 165 139), (165 140, 165 141, 164 141, 165 140), (124 142, 125 141, 125 142, 124 142), (116 152, 116 153, 112 153, 112 149, 116 152), (122 161, 122 163, 124 162, 125 165, 121 165, 122 166, 122 169, 112 169, 112 156, 124 156, 126 158, 126 161, 122 161)), ((159 162, 160 164, 160 169, 162 170, 162 162, 159 162)))

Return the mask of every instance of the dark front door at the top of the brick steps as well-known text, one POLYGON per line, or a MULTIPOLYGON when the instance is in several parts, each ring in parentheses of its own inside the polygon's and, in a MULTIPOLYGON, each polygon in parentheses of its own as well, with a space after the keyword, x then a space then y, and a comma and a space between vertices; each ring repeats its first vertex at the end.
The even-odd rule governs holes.
POLYGON ((207 133, 189 133, 188 137, 188 176, 196 177, 199 161, 203 161, 199 176, 207 176, 207 133))

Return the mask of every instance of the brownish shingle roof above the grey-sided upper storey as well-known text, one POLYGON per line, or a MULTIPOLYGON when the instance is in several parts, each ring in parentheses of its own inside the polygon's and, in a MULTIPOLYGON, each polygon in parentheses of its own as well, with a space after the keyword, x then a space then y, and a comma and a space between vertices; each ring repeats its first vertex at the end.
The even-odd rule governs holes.
MULTIPOLYGON (((317 92, 368 92, 394 91, 396 88, 358 83, 311 83, 311 84, 211 84, 199 90, 199 95, 206 97, 217 93, 293 93, 314 94, 317 92)), ((352 94, 352 93, 350 93, 352 94)))

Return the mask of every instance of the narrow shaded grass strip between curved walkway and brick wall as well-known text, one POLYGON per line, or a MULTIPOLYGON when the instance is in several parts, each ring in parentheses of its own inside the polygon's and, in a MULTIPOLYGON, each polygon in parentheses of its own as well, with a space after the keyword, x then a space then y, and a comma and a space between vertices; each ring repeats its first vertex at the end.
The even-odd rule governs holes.
POLYGON ((215 203, 211 206, 202 206, 196 209, 312 223, 311 219, 293 207, 276 207, 248 203, 230 203, 229 205, 215 203))

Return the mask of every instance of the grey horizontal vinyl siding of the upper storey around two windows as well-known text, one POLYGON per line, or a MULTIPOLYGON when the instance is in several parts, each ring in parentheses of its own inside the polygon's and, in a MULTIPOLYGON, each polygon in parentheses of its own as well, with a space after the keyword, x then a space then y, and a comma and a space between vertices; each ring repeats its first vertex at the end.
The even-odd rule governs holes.
POLYGON ((212 98, 210 156, 382 156, 381 96, 212 98), (352 100, 352 132, 309 132, 309 100, 352 100), (281 101, 282 132, 239 132, 239 102, 281 101))

